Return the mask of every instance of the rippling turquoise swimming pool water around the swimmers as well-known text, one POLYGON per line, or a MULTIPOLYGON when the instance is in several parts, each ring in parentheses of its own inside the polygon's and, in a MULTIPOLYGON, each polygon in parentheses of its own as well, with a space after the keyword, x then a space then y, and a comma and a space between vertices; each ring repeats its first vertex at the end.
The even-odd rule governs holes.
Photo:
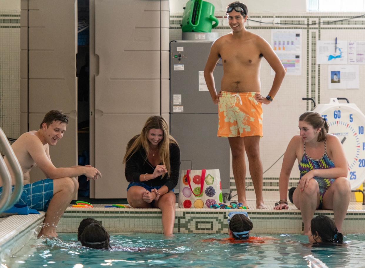
MULTIPOLYGON (((304 235, 273 237, 264 243, 219 243, 223 234, 130 233, 111 235, 109 251, 82 247, 76 234, 59 239, 32 239, 15 256, 3 261, 8 267, 308 267, 312 255, 328 267, 365 267, 365 235, 347 235, 342 246, 310 247, 304 235), (308 258, 307 258, 308 259, 308 258)), ((1 266, 1 265, 0 265, 1 266)))

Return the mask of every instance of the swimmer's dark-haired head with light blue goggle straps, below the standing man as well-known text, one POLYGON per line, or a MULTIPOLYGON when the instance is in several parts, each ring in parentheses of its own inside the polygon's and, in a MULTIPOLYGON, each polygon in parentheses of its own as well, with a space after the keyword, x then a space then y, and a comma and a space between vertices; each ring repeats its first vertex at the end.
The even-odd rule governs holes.
POLYGON ((228 213, 228 229, 233 234, 235 239, 247 239, 250 230, 253 228, 253 223, 250 220, 246 211, 228 213))

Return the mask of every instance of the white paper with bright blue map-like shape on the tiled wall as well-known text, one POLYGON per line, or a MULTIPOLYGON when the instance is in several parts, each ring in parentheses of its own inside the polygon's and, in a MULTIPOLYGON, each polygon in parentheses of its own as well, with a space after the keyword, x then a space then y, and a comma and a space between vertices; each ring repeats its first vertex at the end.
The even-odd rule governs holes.
POLYGON ((318 40, 316 64, 347 64, 347 41, 318 40))

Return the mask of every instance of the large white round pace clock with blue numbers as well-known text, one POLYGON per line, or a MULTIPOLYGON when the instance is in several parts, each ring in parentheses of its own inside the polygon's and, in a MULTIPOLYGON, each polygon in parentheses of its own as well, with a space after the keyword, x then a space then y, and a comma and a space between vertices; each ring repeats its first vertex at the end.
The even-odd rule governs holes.
POLYGON ((329 133, 336 135, 345 151, 351 189, 358 188, 365 178, 365 116, 346 104, 331 106, 320 112, 330 126, 329 133))

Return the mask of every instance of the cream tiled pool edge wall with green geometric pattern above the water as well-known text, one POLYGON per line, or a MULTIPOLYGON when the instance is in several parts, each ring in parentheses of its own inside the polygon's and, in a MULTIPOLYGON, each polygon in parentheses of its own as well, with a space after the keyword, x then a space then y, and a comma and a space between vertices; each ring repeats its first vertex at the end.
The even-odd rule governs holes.
MULTIPOLYGON (((227 216, 241 209, 184 209, 177 208, 174 233, 227 233, 227 216)), ((287 211, 247 210, 254 224, 253 233, 303 233, 301 213, 287 211)), ((317 210, 315 215, 333 217, 333 211, 317 210)), ((162 233, 160 209, 112 208, 88 211, 68 208, 59 221, 58 232, 77 232, 82 219, 92 217, 100 221, 108 232, 162 233)), ((365 211, 349 210, 343 224, 344 233, 365 232, 365 211)))

